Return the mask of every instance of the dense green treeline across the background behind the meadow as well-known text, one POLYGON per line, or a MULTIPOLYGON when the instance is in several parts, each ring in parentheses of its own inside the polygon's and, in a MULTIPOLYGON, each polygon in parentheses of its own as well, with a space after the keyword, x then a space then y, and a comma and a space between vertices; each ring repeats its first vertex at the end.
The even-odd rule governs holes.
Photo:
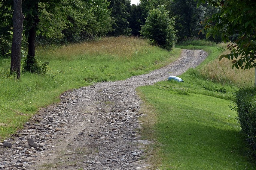
MULTIPOLYGON (((141 27, 145 25, 149 11, 158 5, 165 5, 169 17, 175 19, 178 41, 204 38, 203 34, 198 35, 203 27, 200 22, 215 12, 215 8, 203 5, 197 8, 194 0, 141 0, 139 5, 130 5, 129 0, 23 1, 23 46, 29 45, 30 49, 33 36, 38 43, 80 42, 106 35, 141 36, 141 27)), ((11 48, 12 13, 13 1, 1 1, 1 55, 7 54, 11 48)), ((29 53, 34 56, 33 51, 29 53)))

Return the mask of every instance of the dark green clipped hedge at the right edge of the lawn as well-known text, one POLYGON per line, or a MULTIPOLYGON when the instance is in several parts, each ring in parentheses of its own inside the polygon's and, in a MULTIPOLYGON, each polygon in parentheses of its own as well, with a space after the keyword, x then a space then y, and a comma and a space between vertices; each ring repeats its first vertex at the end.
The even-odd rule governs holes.
POLYGON ((256 158, 256 86, 236 91, 234 102, 242 132, 249 144, 249 154, 256 158))

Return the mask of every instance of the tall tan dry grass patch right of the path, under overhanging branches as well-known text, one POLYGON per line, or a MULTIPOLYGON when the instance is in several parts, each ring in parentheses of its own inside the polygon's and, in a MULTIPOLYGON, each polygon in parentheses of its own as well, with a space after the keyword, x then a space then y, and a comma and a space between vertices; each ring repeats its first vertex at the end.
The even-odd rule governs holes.
MULTIPOLYGON (((229 50, 225 50, 222 54, 228 54, 229 52, 229 50)), ((203 78, 221 84, 234 84, 238 87, 254 85, 254 69, 232 69, 232 60, 223 58, 219 61, 218 58, 200 68, 200 74, 203 78)))

